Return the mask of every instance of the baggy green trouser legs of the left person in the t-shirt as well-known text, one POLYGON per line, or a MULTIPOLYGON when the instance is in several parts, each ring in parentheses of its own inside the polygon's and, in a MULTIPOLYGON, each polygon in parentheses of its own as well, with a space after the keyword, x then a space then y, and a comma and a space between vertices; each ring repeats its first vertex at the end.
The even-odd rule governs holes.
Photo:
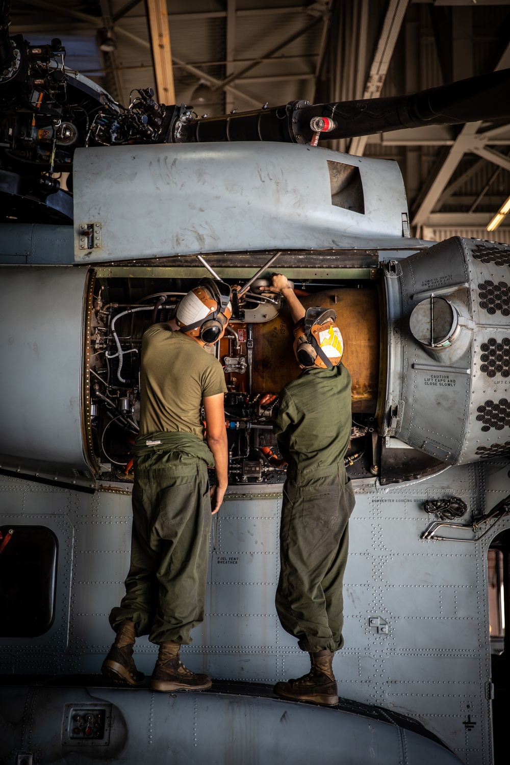
POLYGON ((135 457, 131 565, 112 609, 151 643, 192 642, 203 622, 211 528, 206 463, 178 452, 135 457))

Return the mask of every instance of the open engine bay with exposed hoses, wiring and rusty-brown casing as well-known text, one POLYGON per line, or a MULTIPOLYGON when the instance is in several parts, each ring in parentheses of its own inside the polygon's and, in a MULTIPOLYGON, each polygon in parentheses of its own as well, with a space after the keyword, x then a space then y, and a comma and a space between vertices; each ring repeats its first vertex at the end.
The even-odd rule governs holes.
MULTIPOLYGON (((193 262, 193 261, 192 261, 193 262)), ((196 263, 196 261, 195 261, 196 263)), ((275 266, 277 266, 275 264, 275 266)), ((216 265, 214 265, 216 269, 216 265)), ((243 285, 256 268, 216 269, 243 285)), ((294 281, 306 308, 333 306, 343 334, 344 363, 352 375, 352 441, 346 465, 352 477, 377 472, 375 412, 379 370, 379 297, 374 269, 278 269, 294 281), (354 338, 356 337, 356 343, 354 338), (375 467, 374 467, 375 466, 375 467)), ((99 267, 88 296, 85 425, 89 461, 103 485, 130 483, 132 444, 138 435, 141 339, 156 322, 170 321, 204 269, 99 267)), ((281 296, 254 282, 236 304, 226 334, 211 352, 223 366, 229 439, 229 483, 283 483, 271 418, 278 395, 300 368, 292 349, 290 314, 281 296)))

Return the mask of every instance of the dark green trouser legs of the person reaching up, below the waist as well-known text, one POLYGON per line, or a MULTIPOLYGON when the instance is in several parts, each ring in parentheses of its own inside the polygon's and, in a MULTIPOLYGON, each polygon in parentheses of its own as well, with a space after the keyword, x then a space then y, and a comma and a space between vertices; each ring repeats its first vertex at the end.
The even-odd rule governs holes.
POLYGON ((298 472, 285 482, 275 604, 281 626, 309 653, 343 646, 343 574, 354 503, 343 465, 298 472))

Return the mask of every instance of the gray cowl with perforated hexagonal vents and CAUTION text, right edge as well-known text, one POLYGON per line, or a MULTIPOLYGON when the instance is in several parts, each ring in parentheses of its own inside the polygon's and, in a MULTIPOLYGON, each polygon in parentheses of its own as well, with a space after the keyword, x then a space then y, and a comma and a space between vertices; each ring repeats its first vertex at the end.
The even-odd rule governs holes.
MULTIPOLYGON (((482 344, 490 338, 502 343, 510 336, 508 262, 507 246, 453 237, 385 269, 386 435, 450 464, 479 460, 494 444, 508 441, 510 380, 506 371, 493 376, 482 371, 482 344), (486 262, 480 249, 486 251, 486 262), (480 298, 484 283, 495 285, 489 301, 499 309, 487 310, 480 298), (425 347, 409 328, 413 309, 432 294, 450 301, 460 315, 460 332, 449 347, 425 347), (482 410, 487 415, 483 421, 482 410)), ((506 364, 510 370, 510 360, 506 364)))

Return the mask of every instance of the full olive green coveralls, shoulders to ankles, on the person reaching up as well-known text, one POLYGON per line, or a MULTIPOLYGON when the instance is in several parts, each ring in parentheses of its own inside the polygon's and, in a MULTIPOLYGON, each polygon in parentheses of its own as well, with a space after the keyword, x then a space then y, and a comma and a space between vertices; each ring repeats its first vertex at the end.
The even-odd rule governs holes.
POLYGON ((343 464, 351 422, 351 377, 341 363, 304 369, 282 390, 274 418, 288 462, 276 609, 308 653, 343 646, 343 573, 355 503, 343 464))

